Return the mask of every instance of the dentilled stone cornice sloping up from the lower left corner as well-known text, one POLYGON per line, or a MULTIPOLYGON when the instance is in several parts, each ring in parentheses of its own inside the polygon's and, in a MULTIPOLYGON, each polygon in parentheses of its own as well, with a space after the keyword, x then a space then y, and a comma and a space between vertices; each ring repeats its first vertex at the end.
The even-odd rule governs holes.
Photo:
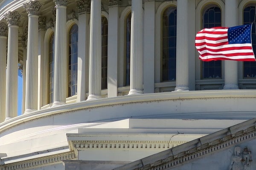
POLYGON ((55 163, 62 162, 62 160, 70 160, 70 159, 76 159, 76 155, 74 151, 57 153, 54 155, 28 159, 24 161, 17 161, 9 164, 2 164, 0 165, 0 170, 1 168, 3 168, 4 170, 17 170, 17 169, 26 170, 26 169, 40 167, 42 165, 46 166, 49 164, 55 164, 55 163))

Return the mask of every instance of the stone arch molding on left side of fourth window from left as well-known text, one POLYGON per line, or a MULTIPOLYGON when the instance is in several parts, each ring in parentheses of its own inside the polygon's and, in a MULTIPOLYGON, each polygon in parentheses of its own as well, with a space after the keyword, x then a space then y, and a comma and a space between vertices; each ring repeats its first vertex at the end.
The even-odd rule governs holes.
POLYGON ((124 86, 124 56, 125 56, 125 19, 131 12, 131 6, 124 8, 119 19, 119 62, 118 62, 118 87, 124 86))

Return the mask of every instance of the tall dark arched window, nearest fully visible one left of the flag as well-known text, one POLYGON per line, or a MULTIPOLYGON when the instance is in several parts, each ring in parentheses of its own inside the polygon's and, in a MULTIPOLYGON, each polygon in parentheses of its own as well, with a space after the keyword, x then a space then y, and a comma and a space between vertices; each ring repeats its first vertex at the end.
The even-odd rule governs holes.
POLYGON ((176 79, 177 9, 168 7, 162 16, 162 63, 161 80, 176 79))

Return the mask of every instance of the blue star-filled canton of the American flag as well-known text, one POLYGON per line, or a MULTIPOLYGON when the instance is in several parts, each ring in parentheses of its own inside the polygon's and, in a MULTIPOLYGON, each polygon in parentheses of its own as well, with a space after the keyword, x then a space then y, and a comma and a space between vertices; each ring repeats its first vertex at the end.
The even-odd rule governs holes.
POLYGON ((228 28, 227 37, 229 44, 251 43, 252 25, 234 26, 228 28))

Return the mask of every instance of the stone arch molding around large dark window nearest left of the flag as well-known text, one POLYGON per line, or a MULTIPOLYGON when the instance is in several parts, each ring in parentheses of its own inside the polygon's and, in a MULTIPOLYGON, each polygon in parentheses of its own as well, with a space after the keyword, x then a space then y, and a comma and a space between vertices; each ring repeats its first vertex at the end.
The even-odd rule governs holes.
POLYGON ((163 12, 166 8, 173 6, 177 8, 177 1, 166 1, 160 4, 160 6, 157 8, 156 12, 156 22, 155 22, 155 28, 156 28, 156 46, 155 46, 155 60, 154 60, 154 66, 155 66, 155 77, 154 82, 160 82, 161 80, 161 16, 163 15, 163 12))

